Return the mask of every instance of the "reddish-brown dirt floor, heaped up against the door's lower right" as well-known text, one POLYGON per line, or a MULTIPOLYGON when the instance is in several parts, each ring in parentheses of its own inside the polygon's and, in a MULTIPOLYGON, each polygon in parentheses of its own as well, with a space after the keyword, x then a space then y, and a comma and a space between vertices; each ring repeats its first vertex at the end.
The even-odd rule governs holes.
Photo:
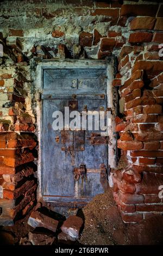
MULTIPOLYGON (((111 192, 96 196, 83 210, 78 211, 85 224, 78 240, 80 245, 161 245, 163 216, 153 217, 139 224, 123 223, 111 192)), ((18 244, 21 237, 33 231, 28 216, 14 227, 0 227, 0 245, 18 244)), ((56 242, 55 242, 56 243, 56 242)))

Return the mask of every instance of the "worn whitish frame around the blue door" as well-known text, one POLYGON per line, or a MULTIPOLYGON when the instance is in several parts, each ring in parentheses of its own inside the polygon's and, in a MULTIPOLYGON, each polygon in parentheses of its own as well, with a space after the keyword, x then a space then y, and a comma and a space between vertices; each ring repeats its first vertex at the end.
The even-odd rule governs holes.
POLYGON ((117 90, 115 87, 112 87, 112 80, 114 80, 115 75, 115 58, 109 57, 106 60, 90 60, 90 59, 60 59, 60 60, 42 60, 42 62, 35 62, 35 69, 32 70, 33 78, 33 90, 34 90, 34 106, 36 113, 36 136, 38 139, 38 159, 37 159, 37 179, 38 179, 38 188, 37 188, 37 200, 38 202, 43 200, 46 202, 53 202, 50 197, 43 197, 42 191, 42 100, 41 94, 43 92, 43 70, 44 69, 106 69, 106 96, 107 96, 107 106, 110 109, 110 126, 111 130, 109 133, 110 142, 108 144, 108 165, 110 168, 117 167, 117 133, 115 132, 115 117, 117 115, 117 90), (108 100, 109 99, 109 100, 108 100), (109 157, 110 156, 110 157, 109 157))

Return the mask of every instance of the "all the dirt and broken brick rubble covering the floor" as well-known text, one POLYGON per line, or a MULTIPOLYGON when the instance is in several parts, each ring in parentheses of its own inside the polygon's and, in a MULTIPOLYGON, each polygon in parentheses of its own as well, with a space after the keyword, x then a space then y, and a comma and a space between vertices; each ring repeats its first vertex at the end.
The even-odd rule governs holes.
POLYGON ((161 245, 163 242, 163 216, 153 216, 141 223, 124 223, 111 191, 97 195, 84 209, 69 213, 66 219, 40 205, 13 227, 0 227, 0 245, 161 245))

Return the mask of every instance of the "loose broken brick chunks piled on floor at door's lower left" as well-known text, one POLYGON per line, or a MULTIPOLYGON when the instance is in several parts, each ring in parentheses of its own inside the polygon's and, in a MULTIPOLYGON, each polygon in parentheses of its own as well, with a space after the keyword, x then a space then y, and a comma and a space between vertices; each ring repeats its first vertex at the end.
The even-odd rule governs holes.
POLYGON ((46 208, 34 210, 29 218, 28 225, 33 229, 25 237, 21 237, 20 245, 52 245, 73 244, 80 237, 83 227, 81 217, 77 210, 71 210, 70 216, 64 218, 56 212, 46 208))

